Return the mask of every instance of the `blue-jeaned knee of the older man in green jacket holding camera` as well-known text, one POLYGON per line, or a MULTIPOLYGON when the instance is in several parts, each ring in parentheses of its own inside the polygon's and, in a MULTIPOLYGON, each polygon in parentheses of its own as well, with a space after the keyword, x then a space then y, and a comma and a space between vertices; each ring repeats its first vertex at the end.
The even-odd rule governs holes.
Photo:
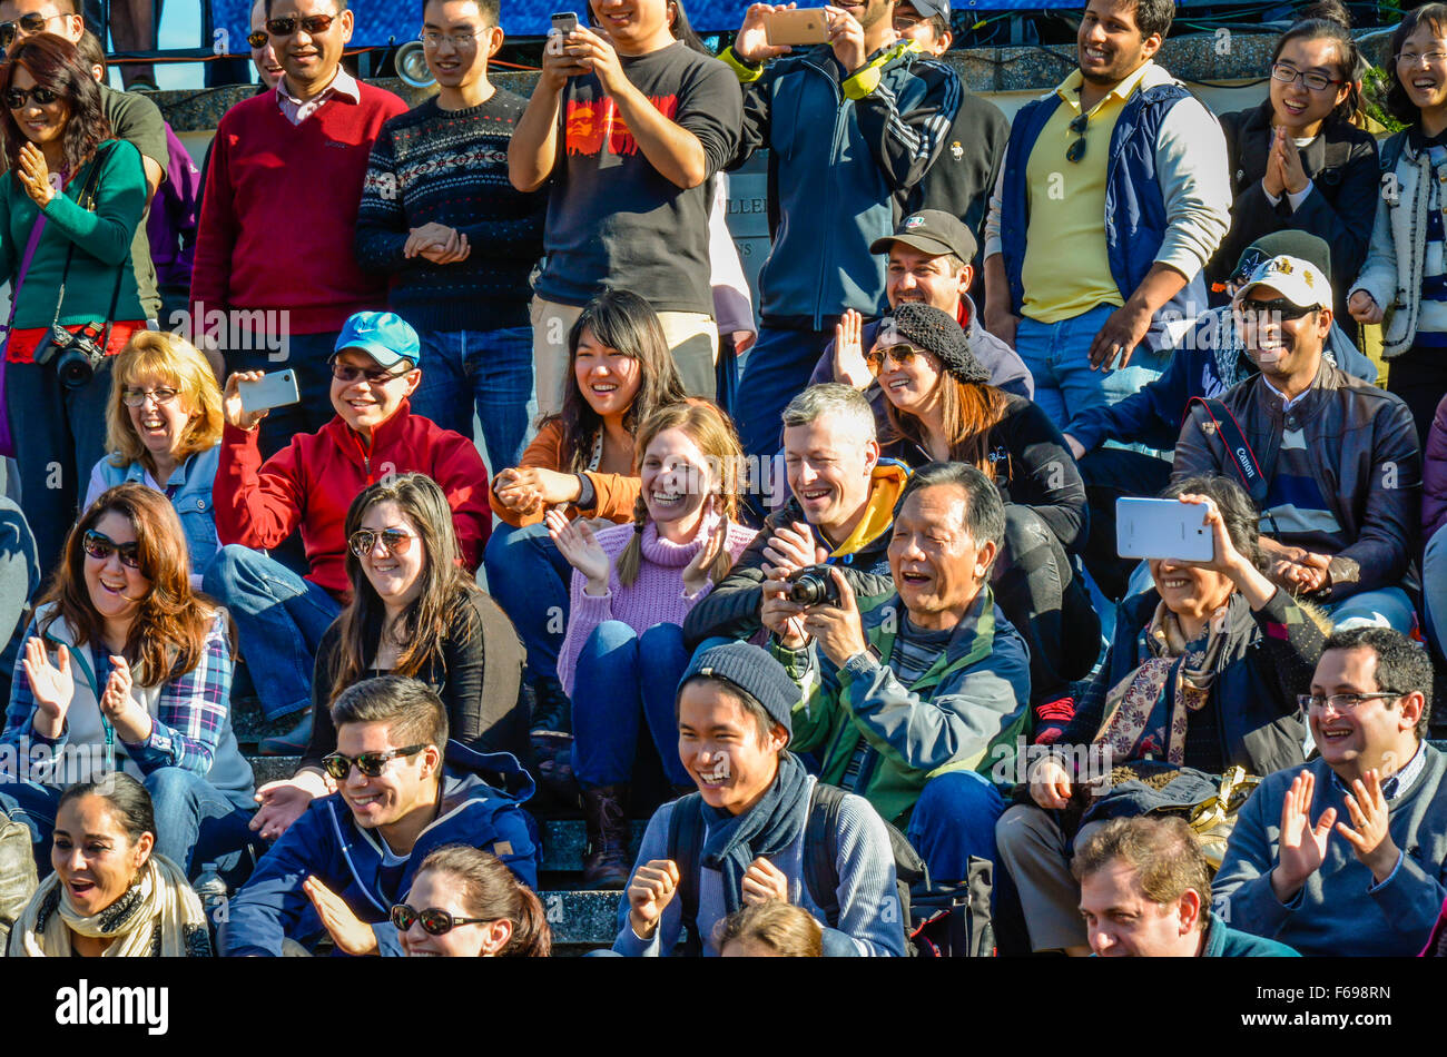
POLYGON ((909 837, 932 881, 959 882, 969 856, 996 862, 994 826, 1004 801, 983 775, 946 771, 925 782, 909 818, 909 837))

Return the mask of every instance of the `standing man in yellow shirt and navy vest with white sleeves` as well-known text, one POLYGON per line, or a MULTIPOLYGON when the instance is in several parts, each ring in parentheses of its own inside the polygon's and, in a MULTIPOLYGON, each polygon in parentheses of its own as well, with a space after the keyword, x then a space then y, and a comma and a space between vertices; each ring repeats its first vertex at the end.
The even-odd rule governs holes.
POLYGON ((990 202, 985 328, 1064 432, 1159 375, 1156 335, 1205 309, 1230 226, 1221 129, 1152 61, 1174 9, 1090 0, 1079 68, 1016 116, 990 202))

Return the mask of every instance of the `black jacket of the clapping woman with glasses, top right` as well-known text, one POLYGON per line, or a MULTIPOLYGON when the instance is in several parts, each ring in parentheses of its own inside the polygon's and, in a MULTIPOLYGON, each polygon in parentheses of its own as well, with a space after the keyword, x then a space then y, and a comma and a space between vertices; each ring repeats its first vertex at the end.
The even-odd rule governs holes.
POLYGON ((1286 228, 1310 231, 1331 247, 1336 314, 1347 320, 1346 294, 1366 260, 1376 220, 1380 179, 1376 140, 1354 124, 1327 119, 1321 134, 1301 152, 1301 165, 1311 178, 1312 189, 1301 208, 1292 213, 1285 197, 1273 207, 1262 188, 1275 132, 1270 120, 1270 100, 1252 110, 1221 116, 1234 201, 1231 230, 1207 265, 1207 279, 1215 283, 1230 278, 1246 247, 1265 234, 1286 228))

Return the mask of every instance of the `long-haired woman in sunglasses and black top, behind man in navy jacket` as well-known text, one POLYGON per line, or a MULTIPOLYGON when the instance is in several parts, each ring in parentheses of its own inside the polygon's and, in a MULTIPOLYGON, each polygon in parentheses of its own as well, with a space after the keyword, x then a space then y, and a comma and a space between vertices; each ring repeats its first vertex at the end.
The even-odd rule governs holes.
POLYGON ((311 740, 295 776, 256 792, 260 810, 252 829, 268 840, 331 791, 323 766, 337 748, 331 703, 359 680, 421 680, 443 700, 453 739, 528 758, 522 643, 498 603, 459 565, 441 489, 420 473, 372 484, 352 502, 346 532, 352 602, 317 649, 311 740))

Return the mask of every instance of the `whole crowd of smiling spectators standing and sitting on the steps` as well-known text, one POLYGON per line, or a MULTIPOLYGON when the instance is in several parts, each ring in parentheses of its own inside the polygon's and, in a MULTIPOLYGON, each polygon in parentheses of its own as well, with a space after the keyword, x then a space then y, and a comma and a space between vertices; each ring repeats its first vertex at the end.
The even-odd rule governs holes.
POLYGON ((256 0, 195 166, 0 0, 6 953, 547 956, 569 808, 598 953, 1435 953, 1447 4, 1380 143, 1336 0, 1220 117, 1088 0, 1010 121, 946 0, 590 0, 528 98, 418 7, 408 108, 256 0))

